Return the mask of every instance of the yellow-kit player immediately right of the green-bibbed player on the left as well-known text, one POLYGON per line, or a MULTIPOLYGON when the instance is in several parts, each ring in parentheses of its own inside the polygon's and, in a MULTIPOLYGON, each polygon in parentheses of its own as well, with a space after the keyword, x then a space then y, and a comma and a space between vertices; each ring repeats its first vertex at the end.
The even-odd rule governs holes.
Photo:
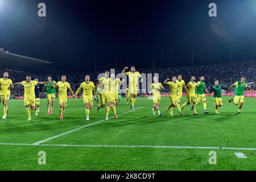
POLYGON ((60 119, 63 119, 63 114, 65 111, 65 107, 67 107, 67 90, 72 94, 73 97, 75 97, 69 83, 66 81, 67 77, 65 75, 61 75, 61 81, 58 81, 56 85, 53 85, 52 82, 50 82, 53 86, 53 88, 57 89, 59 88, 58 91, 58 100, 59 100, 59 105, 60 105, 60 119))

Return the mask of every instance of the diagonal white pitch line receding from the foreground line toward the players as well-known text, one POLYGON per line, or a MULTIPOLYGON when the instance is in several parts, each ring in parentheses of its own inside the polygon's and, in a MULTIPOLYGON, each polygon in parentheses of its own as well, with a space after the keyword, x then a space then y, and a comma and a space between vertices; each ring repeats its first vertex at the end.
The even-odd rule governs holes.
MULTIPOLYGON (((143 107, 144 107, 144 106, 139 107, 138 109, 142 109, 143 107)), ((136 109, 136 110, 138 110, 138 109, 136 109)), ((119 114, 119 115, 131 113, 131 112, 132 112, 132 110, 127 111, 127 112, 122 113, 122 114, 119 114)), ((111 118, 114 118, 114 117, 111 117, 111 118)), ((94 122, 94 123, 90 123, 89 125, 84 125, 84 126, 81 126, 81 127, 77 128, 77 129, 69 130, 69 131, 67 131, 67 132, 65 132, 65 133, 61 133, 61 134, 59 134, 59 135, 55 135, 55 136, 53 136, 53 137, 50 137, 50 138, 47 138, 47 139, 44 139, 44 140, 40 140, 40 141, 38 141, 38 142, 36 142, 36 143, 33 143, 33 145, 45 143, 45 142, 48 142, 49 140, 52 140, 52 139, 55 139, 55 138, 59 138, 59 137, 62 137, 62 136, 64 136, 64 135, 67 135, 67 134, 74 133, 74 132, 79 131, 79 130, 81 130, 81 129, 84 129, 84 128, 86 128, 86 127, 96 125, 96 124, 98 124, 98 123, 100 123, 100 122, 102 122, 102 121, 106 121, 106 120, 105 120, 105 119, 102 119, 102 120, 100 120, 100 121, 97 121, 97 122, 94 122)))

